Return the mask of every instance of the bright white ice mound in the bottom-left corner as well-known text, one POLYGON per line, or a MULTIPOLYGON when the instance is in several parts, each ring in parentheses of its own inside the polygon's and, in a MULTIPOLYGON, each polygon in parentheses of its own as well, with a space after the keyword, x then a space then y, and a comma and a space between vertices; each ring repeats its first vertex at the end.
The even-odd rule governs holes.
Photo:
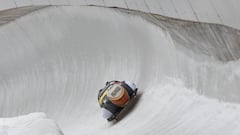
POLYGON ((44 113, 0 118, 0 135, 63 135, 57 124, 44 113))

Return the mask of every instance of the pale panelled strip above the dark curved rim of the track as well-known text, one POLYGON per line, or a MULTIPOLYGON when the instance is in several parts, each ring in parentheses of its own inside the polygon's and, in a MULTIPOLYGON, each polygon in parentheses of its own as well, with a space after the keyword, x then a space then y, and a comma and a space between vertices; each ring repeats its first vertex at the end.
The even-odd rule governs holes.
POLYGON ((39 5, 96 5, 240 28, 238 0, 2 0, 0 10, 39 5))

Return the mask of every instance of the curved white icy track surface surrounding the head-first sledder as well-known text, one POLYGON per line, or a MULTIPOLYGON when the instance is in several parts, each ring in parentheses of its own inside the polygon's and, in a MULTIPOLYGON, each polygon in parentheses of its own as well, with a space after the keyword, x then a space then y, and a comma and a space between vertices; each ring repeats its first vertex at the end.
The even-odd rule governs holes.
POLYGON ((0 134, 239 135, 239 36, 120 9, 29 13, 0 26, 0 134), (115 79, 139 95, 108 123, 97 94, 115 79))

